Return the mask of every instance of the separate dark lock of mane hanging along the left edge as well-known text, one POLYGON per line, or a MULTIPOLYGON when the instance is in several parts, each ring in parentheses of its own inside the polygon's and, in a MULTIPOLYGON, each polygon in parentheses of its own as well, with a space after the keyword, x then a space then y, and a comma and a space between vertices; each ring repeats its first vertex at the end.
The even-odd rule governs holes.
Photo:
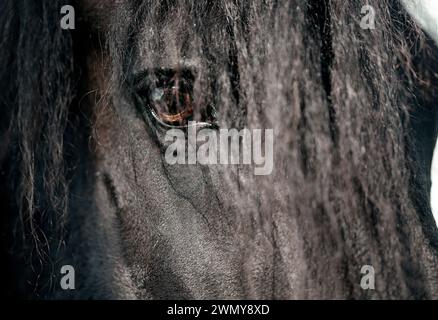
POLYGON ((73 37, 59 27, 67 2, 0 3, 5 245, 37 273, 61 243, 68 206, 64 137, 76 83, 73 37))

